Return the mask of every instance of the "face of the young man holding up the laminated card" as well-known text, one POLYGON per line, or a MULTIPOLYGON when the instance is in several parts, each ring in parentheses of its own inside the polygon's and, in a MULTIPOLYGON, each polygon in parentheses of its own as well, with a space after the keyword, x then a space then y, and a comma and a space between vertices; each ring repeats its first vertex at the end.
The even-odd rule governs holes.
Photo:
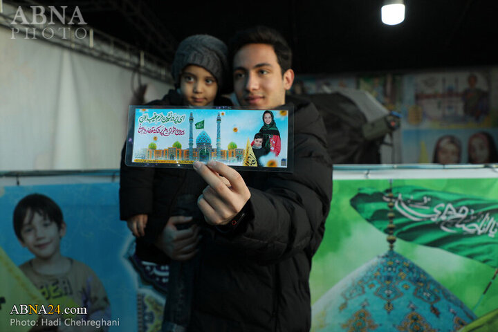
POLYGON ((270 109, 285 104, 294 72, 282 75, 273 46, 248 44, 234 56, 234 92, 243 106, 270 109))

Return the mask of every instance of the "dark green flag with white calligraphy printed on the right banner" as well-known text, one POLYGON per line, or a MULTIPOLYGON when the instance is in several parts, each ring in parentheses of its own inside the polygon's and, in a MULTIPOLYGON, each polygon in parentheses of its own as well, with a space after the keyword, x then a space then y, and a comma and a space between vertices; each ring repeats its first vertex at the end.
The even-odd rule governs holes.
MULTIPOLYGON (((415 186, 394 187, 393 193, 396 237, 498 268, 498 201, 415 186)), ((350 203, 387 232, 387 201, 387 191, 364 187, 350 203)))

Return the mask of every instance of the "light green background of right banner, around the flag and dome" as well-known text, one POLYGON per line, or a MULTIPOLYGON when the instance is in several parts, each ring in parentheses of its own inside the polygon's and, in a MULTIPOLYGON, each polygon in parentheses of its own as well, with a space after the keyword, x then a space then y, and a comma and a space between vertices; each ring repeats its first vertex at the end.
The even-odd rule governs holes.
MULTIPOLYGON (((396 196, 397 186, 414 185, 425 187, 427 190, 436 190, 443 192, 451 192, 461 195, 479 196, 482 199, 490 199, 497 201, 495 192, 498 190, 498 181, 495 178, 481 179, 395 179, 393 181, 394 195, 396 196)), ((389 188, 389 180, 336 180, 333 188, 333 201, 331 203, 331 212, 326 221, 326 231, 322 245, 313 258, 313 269, 311 271, 311 297, 313 308, 313 329, 312 331, 327 331, 322 330, 326 317, 319 315, 316 304, 320 299, 340 282, 351 284, 353 280, 344 279, 350 273, 364 266, 367 262, 375 259, 378 255, 385 254, 389 249, 387 243, 387 234, 380 232, 371 223, 367 222, 354 208, 351 207, 351 199, 355 197, 359 188, 367 187, 372 190, 384 191, 389 188)), ((387 203, 386 203, 387 205, 387 203)), ((387 220, 387 215, 385 216, 387 220)), ((397 239, 394 243, 394 251, 402 255, 409 261, 412 261, 418 268, 421 268, 427 275, 430 275, 436 282, 442 284, 445 288, 457 297, 468 308, 472 309, 479 301, 484 289, 490 282, 495 268, 483 264, 479 261, 454 255, 448 251, 439 248, 422 246, 416 243, 397 239)), ((350 285, 351 286, 351 285, 350 285)), ((405 285, 406 286, 406 285, 405 285)), ((359 291, 360 288, 355 288, 359 291)), ((367 285, 365 285, 367 289, 367 285)), ((396 310, 408 313, 415 304, 413 300, 409 300, 409 296, 413 289, 409 290, 401 288, 400 293, 404 297, 393 301, 394 311, 391 313, 391 319, 394 319, 396 310), (406 301, 408 299, 408 301, 406 301), (406 301, 406 302, 403 302, 406 301)), ((441 294, 439 294, 441 295, 441 294)), ((341 293, 342 297, 347 298, 353 296, 351 293, 341 293)), ((374 304, 377 297, 368 299, 363 302, 364 308, 374 310, 371 304, 374 304)), ((340 301, 341 302, 341 301, 340 301)), ((343 301, 344 302, 344 301, 343 301)), ((434 302, 436 311, 439 310, 438 302, 434 302)), ((498 308, 498 286, 492 284, 488 293, 483 297, 479 306, 474 311, 475 315, 480 316, 488 313, 493 309, 498 308)), ((347 326, 350 317, 342 317, 340 313, 346 313, 347 308, 329 308, 334 312, 335 320, 347 326)), ((359 308, 361 309, 361 307, 359 308)), ((378 307, 378 311, 384 310, 382 306, 378 307)), ((441 310, 442 312, 443 310, 441 310)), ((428 313, 427 315, 434 315, 428 313)), ((443 313, 441 313, 443 315, 443 313)), ((372 313, 372 317, 374 313, 372 313)), ((366 317, 366 316, 364 316, 366 317)), ((463 317, 466 322, 469 322, 468 317, 463 317)), ((365 324, 369 320, 365 320, 365 324)), ((338 323, 339 324, 339 323, 338 323)), ((380 331, 388 330, 386 322, 371 322, 371 326, 375 324, 384 324, 380 331)), ((450 326, 449 326, 450 328, 450 326)), ((328 331, 348 331, 347 329, 331 329, 328 331)), ((398 331, 398 330, 392 330, 398 331)), ((409 331, 409 330, 400 330, 409 331)), ((426 330, 424 330, 426 331, 426 330)), ((427 331, 432 331, 427 329, 427 331)), ((456 331, 449 329, 448 331, 456 331)))

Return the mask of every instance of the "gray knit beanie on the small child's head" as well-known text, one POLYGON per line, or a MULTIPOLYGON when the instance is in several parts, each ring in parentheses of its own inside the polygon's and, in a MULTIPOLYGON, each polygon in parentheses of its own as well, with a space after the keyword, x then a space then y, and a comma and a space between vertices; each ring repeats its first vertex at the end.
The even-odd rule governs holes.
POLYGON ((177 86, 183 68, 190 64, 209 71, 221 90, 228 75, 228 48, 225 43, 210 35, 192 35, 178 45, 172 64, 172 76, 177 86))

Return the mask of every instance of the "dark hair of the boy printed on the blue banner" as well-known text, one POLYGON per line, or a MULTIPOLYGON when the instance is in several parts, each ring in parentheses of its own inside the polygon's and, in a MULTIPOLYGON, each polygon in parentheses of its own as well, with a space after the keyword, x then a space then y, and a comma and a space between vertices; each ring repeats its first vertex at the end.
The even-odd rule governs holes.
POLYGON ((24 241, 21 235, 24 219, 29 214, 28 223, 31 223, 35 213, 40 214, 45 219, 55 222, 59 230, 64 222, 62 210, 59 208, 57 203, 55 203, 48 196, 42 194, 30 194, 24 197, 24 199, 21 199, 14 209, 14 231, 19 240, 24 241))

